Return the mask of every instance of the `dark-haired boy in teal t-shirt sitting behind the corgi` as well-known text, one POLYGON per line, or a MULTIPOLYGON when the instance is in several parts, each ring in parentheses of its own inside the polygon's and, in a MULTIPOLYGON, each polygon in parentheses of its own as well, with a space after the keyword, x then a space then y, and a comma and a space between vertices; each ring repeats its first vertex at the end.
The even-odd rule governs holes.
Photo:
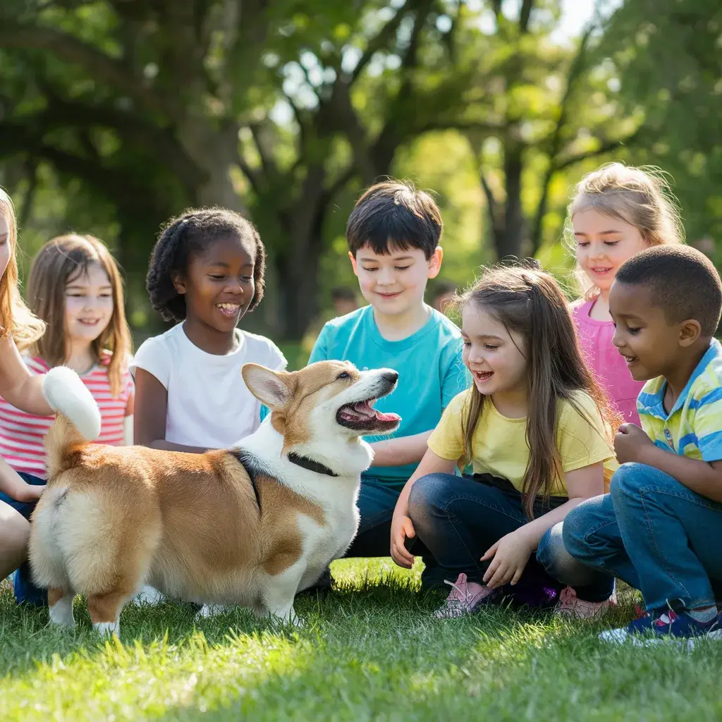
MULTIPOLYGON (((427 193, 399 181, 369 188, 347 225, 349 258, 369 305, 326 323, 310 355, 310 363, 340 359, 362 369, 399 372, 396 391, 377 407, 400 414, 401 426, 396 438, 367 438, 375 458, 362 477, 360 528, 350 557, 388 556, 399 492, 424 456, 443 410, 469 383, 461 334, 424 303, 427 281, 441 267, 441 230, 439 209, 427 193)), ((433 578, 429 561, 425 586, 441 582, 433 578)))

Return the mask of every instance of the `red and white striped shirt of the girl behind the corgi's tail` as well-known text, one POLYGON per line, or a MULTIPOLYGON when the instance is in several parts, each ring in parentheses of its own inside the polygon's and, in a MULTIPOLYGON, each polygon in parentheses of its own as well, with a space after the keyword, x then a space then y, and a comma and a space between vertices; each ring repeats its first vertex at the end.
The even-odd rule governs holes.
MULTIPOLYGON (((43 359, 23 357, 32 373, 48 373, 43 359)), ((105 360, 104 360, 105 361, 105 360)), ((110 394, 108 370, 103 361, 80 377, 100 409, 100 437, 97 443, 122 446, 123 421, 134 385, 130 371, 123 371, 121 393, 116 399, 110 394)), ((45 479, 45 449, 43 439, 53 423, 53 417, 26 414, 0 397, 0 456, 15 471, 45 479)))

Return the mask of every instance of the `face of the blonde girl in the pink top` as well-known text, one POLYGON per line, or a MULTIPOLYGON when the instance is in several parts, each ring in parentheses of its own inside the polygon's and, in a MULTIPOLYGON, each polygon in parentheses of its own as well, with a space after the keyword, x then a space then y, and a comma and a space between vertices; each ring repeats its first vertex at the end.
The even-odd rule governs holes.
POLYGON ((612 287, 619 266, 648 247, 638 228, 591 208, 576 212, 572 225, 577 263, 603 294, 612 287))

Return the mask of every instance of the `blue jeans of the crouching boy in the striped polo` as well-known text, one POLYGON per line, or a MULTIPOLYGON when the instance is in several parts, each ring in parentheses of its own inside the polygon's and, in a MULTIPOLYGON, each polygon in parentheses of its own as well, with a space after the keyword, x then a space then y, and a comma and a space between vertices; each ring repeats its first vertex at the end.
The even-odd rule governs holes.
POLYGON ((649 612, 711 606, 722 589, 722 504, 653 466, 619 466, 563 536, 575 559, 639 589, 649 612))

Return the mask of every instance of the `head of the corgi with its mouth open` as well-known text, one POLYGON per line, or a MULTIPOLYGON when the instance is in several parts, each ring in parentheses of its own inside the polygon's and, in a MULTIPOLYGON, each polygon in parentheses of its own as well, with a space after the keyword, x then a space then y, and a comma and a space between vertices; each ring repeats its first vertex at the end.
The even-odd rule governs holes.
POLYGON ((242 373, 253 396, 271 409, 287 451, 387 434, 401 422, 398 414, 373 408, 396 388, 399 374, 388 368, 360 371, 349 362, 319 361, 288 373, 249 363, 242 373))

